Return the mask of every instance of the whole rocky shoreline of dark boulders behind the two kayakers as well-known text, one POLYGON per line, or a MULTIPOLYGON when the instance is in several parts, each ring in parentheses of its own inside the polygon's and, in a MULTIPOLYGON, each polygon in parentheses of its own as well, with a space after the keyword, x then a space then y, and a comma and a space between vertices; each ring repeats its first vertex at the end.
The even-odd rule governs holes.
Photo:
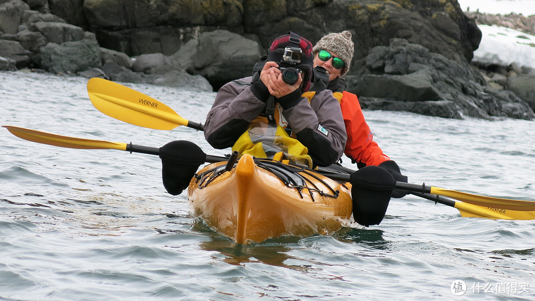
POLYGON ((346 79, 363 108, 535 118, 533 70, 470 63, 476 22, 532 34, 535 16, 464 13, 456 0, 203 3, 0 0, 0 70, 213 91, 248 76, 280 34, 315 43, 348 29, 355 57, 346 79))

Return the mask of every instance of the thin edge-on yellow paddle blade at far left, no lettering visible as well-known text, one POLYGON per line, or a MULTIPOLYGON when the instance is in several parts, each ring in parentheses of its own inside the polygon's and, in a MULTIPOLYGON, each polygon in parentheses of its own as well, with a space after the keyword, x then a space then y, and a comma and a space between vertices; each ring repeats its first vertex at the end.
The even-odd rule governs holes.
POLYGON ((82 149, 119 149, 119 151, 126 151, 127 146, 126 143, 59 136, 56 134, 24 129, 17 126, 3 125, 2 127, 5 127, 13 135, 21 139, 59 147, 82 149))

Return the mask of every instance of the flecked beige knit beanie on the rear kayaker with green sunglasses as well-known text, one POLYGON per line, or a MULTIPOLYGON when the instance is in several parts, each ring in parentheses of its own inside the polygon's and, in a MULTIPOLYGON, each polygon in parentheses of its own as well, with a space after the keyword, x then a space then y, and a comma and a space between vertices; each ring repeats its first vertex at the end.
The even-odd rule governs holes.
POLYGON ((351 33, 349 31, 343 31, 341 33, 327 34, 320 39, 312 52, 315 54, 319 50, 327 50, 335 52, 338 57, 343 61, 344 65, 340 74, 343 76, 349 71, 351 65, 351 59, 353 59, 354 44, 351 41, 351 33))

